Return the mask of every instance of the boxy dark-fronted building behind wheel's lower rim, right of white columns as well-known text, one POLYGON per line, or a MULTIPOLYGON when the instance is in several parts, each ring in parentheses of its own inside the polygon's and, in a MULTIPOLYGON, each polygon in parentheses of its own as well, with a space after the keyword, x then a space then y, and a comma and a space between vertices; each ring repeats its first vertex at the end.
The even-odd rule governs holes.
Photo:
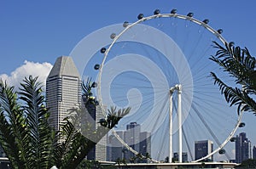
MULTIPOLYGON (((209 155, 213 151, 213 143, 210 140, 195 141, 195 160, 201 159, 206 155, 209 155)), ((207 159, 207 161, 213 161, 213 155, 207 159)))

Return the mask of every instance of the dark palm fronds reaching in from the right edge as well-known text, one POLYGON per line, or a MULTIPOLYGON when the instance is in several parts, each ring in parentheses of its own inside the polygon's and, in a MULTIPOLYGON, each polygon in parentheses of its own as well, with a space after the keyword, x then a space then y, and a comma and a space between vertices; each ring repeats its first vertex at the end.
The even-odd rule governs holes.
POLYGON ((214 47, 218 48, 218 51, 210 59, 233 78, 236 87, 228 85, 218 75, 211 72, 214 84, 218 85, 220 92, 224 94, 224 98, 230 106, 237 105, 238 114, 241 110, 256 114, 256 103, 255 98, 253 98, 256 94, 255 58, 247 48, 235 47, 234 42, 225 44, 225 47, 214 42, 214 47))

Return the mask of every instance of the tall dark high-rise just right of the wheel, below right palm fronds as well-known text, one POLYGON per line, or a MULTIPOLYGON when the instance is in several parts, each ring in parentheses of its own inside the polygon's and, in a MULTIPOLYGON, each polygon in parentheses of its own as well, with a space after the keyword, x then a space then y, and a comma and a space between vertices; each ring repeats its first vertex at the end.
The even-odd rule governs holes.
POLYGON ((248 140, 246 133, 241 132, 236 135, 236 163, 241 163, 250 158, 251 142, 248 140))

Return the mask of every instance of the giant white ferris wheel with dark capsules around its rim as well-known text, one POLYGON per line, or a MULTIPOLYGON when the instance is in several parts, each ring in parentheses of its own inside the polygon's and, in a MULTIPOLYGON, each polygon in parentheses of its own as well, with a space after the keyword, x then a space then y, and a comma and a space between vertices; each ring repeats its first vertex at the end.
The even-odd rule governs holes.
POLYGON ((229 143, 242 126, 242 114, 226 104, 210 76, 213 71, 229 80, 209 59, 217 51, 213 42, 227 42, 223 31, 208 23, 193 13, 156 9, 153 15, 138 14, 135 22, 109 26, 109 41, 93 53, 97 59, 90 63, 98 70, 96 96, 103 112, 110 106, 131 107, 110 134, 134 154, 140 150, 133 145, 143 140, 131 144, 118 134, 132 122, 148 132, 153 161, 172 159, 174 152, 179 162, 184 152, 194 162, 213 160, 213 155, 214 161, 232 158, 234 145, 229 143), (195 143, 201 140, 212 149, 196 157, 195 143))

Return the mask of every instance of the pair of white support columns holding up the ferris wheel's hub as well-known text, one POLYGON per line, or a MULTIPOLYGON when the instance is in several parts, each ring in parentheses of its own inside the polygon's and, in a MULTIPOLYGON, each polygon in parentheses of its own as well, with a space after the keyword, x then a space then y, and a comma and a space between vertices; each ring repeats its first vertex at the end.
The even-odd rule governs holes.
POLYGON ((178 162, 183 161, 183 139, 182 139, 182 107, 181 93, 182 87, 180 84, 170 88, 170 110, 169 110, 169 162, 172 163, 172 94, 177 90, 177 121, 178 121, 178 162))

